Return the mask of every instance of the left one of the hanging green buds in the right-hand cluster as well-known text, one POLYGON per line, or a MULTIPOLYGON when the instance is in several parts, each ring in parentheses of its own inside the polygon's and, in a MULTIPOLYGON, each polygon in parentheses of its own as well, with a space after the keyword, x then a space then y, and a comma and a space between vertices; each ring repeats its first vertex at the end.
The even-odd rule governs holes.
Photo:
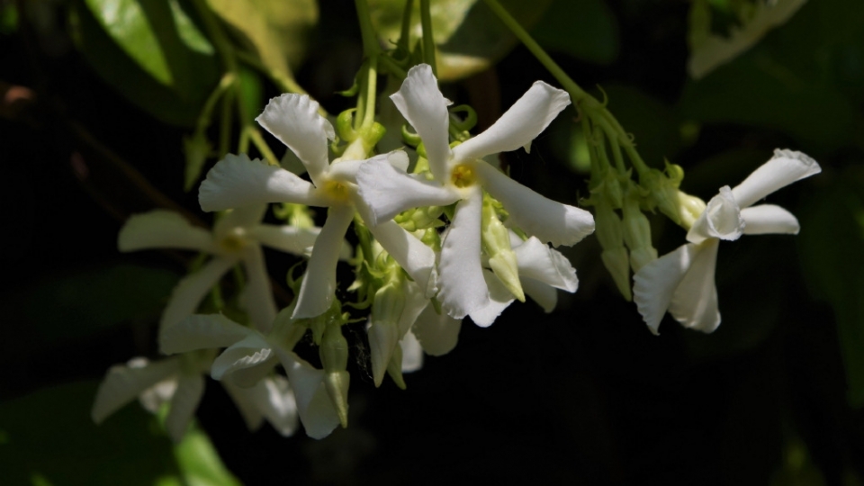
POLYGON ((629 302, 633 296, 630 292, 630 258, 624 247, 624 229, 621 218, 617 212, 612 210, 612 205, 603 194, 598 194, 594 200, 594 224, 595 233, 603 247, 600 258, 603 265, 612 275, 612 280, 618 288, 618 292, 629 302))

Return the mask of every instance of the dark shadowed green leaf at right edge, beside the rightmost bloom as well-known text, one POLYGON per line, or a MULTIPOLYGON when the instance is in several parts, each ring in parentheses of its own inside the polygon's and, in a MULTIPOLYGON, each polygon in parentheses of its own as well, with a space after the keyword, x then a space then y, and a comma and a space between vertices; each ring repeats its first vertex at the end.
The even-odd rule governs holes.
POLYGON ((807 282, 837 321, 847 399, 864 406, 864 169, 849 167, 809 194, 800 245, 807 282))

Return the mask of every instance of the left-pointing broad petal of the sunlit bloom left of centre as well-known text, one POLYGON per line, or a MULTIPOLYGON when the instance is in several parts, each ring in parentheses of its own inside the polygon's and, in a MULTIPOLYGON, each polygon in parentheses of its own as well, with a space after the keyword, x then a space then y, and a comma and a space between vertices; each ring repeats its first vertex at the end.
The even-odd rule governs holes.
POLYGON ((308 181, 257 158, 250 161, 246 154, 229 154, 217 162, 201 183, 198 202, 203 211, 223 211, 267 202, 329 205, 327 197, 308 181))

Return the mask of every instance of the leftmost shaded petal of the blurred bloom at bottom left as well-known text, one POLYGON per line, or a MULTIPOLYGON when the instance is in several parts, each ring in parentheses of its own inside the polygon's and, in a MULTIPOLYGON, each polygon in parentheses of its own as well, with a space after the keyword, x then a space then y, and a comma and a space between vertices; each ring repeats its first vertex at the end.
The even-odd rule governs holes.
POLYGON ((140 365, 134 367, 114 365, 105 374, 104 380, 99 383, 93 410, 90 411, 90 417, 95 423, 102 423, 109 415, 135 400, 139 394, 180 371, 180 361, 176 358, 152 363, 147 360, 138 361, 140 365))

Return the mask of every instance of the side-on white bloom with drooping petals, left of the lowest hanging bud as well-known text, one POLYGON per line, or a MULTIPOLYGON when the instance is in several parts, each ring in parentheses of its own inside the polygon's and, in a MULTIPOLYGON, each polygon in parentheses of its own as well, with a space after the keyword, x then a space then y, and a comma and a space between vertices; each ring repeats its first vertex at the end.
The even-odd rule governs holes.
POLYGON ((315 369, 284 346, 288 340, 286 332, 286 327, 277 323, 273 332, 265 336, 220 314, 196 314, 162 333, 160 347, 169 354, 226 347, 212 362, 211 376, 238 387, 266 380, 274 366, 281 363, 306 434, 313 438, 327 437, 339 425, 339 416, 329 399, 324 371, 315 369))

